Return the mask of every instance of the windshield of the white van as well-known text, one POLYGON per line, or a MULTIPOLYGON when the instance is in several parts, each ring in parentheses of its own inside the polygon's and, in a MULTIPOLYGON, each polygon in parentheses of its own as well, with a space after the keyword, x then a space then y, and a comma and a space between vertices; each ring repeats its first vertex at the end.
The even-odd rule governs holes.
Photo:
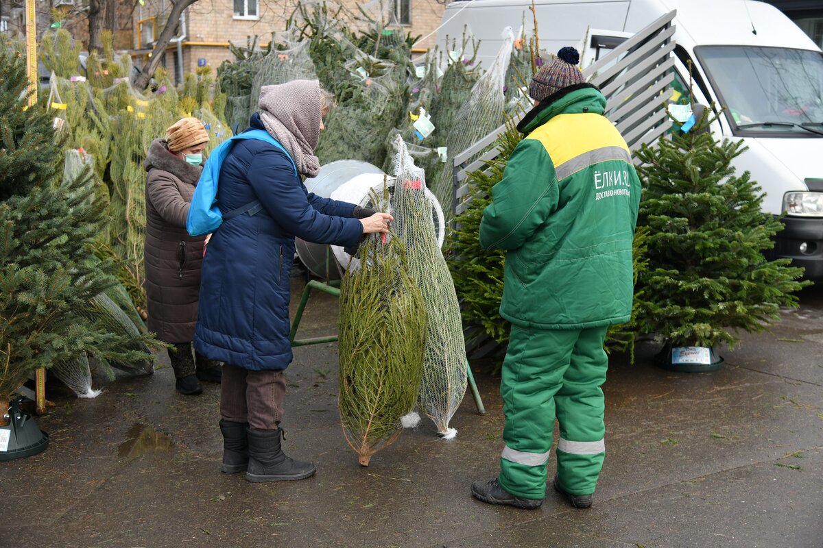
POLYGON ((823 53, 752 46, 700 46, 695 53, 735 135, 823 133, 823 53))

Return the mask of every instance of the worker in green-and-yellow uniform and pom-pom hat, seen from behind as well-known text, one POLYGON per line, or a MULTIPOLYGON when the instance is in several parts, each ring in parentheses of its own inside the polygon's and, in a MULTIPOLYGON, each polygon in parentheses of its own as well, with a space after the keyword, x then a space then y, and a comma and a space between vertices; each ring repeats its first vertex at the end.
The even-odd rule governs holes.
POLYGON ((605 456, 603 340, 631 315, 640 182, 578 62, 562 48, 532 78, 535 107, 518 124, 526 136, 480 225, 481 246, 507 251, 500 315, 512 325, 500 475, 472 484, 490 504, 542 504, 555 418, 554 487, 575 507, 592 505, 605 456))

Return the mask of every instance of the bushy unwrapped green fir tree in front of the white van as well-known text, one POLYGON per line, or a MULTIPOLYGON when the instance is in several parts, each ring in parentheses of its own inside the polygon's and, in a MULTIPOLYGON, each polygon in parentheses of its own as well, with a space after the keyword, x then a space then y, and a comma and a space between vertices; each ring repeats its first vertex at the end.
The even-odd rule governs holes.
POLYGON ((732 329, 766 329, 781 306, 797 306, 794 293, 804 285, 790 260, 766 260, 782 224, 760 209, 764 194, 749 173, 732 166, 743 141, 701 131, 709 112, 691 131, 637 152, 638 223, 649 228, 649 269, 635 295, 645 308, 639 324, 677 347, 733 347, 732 329))

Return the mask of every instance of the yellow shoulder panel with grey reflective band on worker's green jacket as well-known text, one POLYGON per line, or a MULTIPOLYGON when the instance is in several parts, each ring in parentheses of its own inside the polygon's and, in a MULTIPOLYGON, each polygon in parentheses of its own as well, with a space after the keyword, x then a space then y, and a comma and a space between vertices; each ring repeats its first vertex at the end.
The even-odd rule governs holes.
POLYGON ((559 114, 529 134, 539 140, 561 181, 593 163, 617 159, 631 162, 631 153, 616 127, 601 114, 559 114))

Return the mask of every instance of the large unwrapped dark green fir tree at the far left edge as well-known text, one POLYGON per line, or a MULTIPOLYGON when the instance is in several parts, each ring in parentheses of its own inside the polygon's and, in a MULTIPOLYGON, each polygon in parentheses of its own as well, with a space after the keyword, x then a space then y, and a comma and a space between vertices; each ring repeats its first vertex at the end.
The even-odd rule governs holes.
POLYGON ((114 263, 91 244, 105 223, 105 200, 91 168, 61 182, 62 143, 43 105, 26 108, 24 58, 0 44, 0 405, 30 372, 94 355, 151 358, 150 339, 114 333, 93 299, 114 286, 114 263), (145 347, 143 347, 145 348, 145 347))

